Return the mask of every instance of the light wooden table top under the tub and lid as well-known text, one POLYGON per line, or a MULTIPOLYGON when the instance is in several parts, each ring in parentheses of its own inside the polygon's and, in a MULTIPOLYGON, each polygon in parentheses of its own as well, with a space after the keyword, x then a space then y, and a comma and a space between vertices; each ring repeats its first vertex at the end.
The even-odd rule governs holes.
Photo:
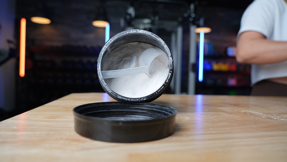
POLYGON ((142 143, 109 143, 74 131, 75 106, 114 101, 70 94, 0 122, 0 161, 287 161, 287 98, 164 94, 178 110, 175 133, 142 143))

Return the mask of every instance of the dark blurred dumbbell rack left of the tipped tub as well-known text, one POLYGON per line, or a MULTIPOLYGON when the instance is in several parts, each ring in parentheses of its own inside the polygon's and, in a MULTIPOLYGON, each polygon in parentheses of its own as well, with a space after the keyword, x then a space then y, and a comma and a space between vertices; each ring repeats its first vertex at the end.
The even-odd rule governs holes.
POLYGON ((104 92, 97 75, 100 48, 33 46, 27 49, 26 75, 19 82, 25 109, 70 93, 104 92))

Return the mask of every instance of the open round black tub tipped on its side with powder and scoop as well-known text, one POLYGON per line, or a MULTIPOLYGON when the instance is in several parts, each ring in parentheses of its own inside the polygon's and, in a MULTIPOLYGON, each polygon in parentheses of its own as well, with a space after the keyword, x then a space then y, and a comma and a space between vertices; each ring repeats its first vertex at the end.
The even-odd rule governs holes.
POLYGON ((98 57, 100 83, 112 98, 151 102, 162 95, 173 76, 173 58, 157 35, 139 29, 112 37, 98 57))

